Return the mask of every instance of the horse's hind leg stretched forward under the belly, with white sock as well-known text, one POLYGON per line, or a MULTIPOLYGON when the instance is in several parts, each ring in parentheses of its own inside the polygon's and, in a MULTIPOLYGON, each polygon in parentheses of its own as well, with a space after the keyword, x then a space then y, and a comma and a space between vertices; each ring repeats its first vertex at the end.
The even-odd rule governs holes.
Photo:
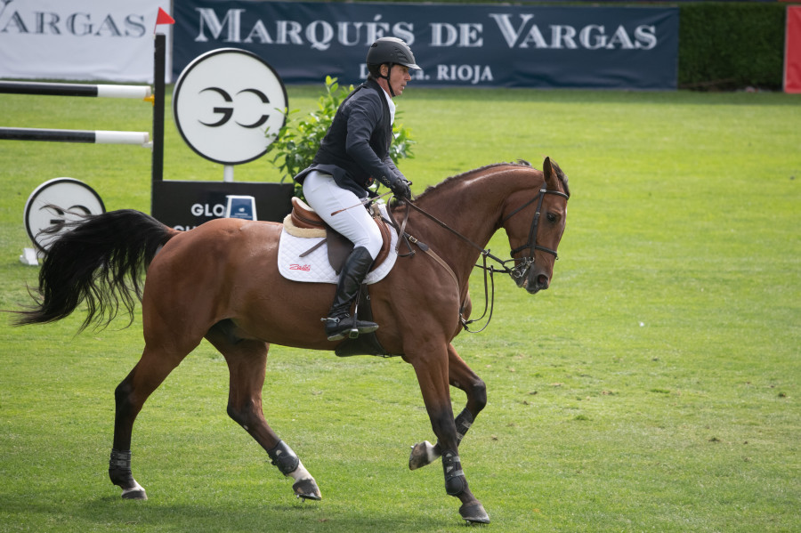
POLYGON ((292 489, 297 497, 319 500, 320 489, 292 448, 280 440, 264 420, 262 387, 269 344, 263 341, 239 339, 232 333, 231 322, 212 327, 206 339, 219 350, 228 362, 231 385, 228 415, 270 456, 272 464, 285 476, 295 480, 292 489))

